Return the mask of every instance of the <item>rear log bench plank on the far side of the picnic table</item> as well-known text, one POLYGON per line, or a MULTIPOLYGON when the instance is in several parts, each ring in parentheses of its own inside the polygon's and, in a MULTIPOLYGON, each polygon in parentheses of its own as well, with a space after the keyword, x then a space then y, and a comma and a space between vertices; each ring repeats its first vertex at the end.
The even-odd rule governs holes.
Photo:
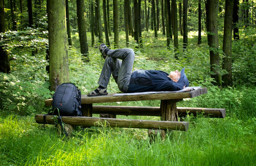
MULTIPOLYGON (((177 107, 178 115, 181 117, 187 114, 197 116, 209 116, 211 118, 225 118, 226 110, 218 108, 193 108, 177 107), (187 113, 188 112, 188 113, 187 113)), ((117 114, 135 116, 160 116, 160 107, 136 107, 136 106, 92 106, 92 114, 117 114)))

